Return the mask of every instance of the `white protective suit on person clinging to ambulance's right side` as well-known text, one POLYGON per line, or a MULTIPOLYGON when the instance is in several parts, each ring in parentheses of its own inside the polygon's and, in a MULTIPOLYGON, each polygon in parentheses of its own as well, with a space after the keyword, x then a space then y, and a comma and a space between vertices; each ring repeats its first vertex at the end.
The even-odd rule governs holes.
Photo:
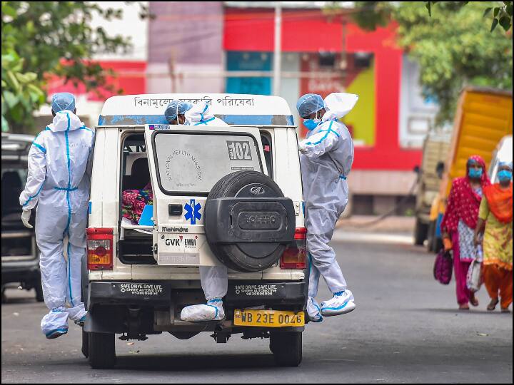
MULTIPOLYGON (((340 100, 342 95, 349 94, 334 93, 326 98, 328 111, 321 118, 321 123, 299 144, 310 255, 308 297, 318 312, 319 307, 313 298, 318 294, 320 275, 332 293, 346 290, 336 253, 328 245, 336 222, 348 203, 346 178, 353 163, 353 140, 346 126, 337 118, 353 108, 357 96, 353 95, 353 102, 348 103, 340 100)), ((321 311, 323 313, 323 304, 321 311)))

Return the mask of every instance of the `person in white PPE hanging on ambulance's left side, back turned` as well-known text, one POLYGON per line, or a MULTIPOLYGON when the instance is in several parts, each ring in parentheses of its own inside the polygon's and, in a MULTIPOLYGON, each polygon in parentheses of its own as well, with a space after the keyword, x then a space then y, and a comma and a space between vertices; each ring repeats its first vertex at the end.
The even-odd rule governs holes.
POLYGON ((31 210, 37 206, 35 231, 41 251, 41 283, 50 309, 41 320, 41 330, 48 339, 68 332, 68 317, 80 325, 86 317, 81 302, 81 260, 86 257, 94 145, 94 132, 75 115, 71 93, 54 95, 51 108, 54 121, 32 143, 29 174, 19 197, 21 220, 26 227, 32 228, 31 210))

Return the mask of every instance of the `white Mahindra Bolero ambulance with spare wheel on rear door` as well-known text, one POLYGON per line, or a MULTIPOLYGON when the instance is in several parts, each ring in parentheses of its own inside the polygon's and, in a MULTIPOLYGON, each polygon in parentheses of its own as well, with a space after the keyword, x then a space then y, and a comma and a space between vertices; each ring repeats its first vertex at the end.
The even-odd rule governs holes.
POLYGON ((268 338, 298 366, 308 289, 296 126, 276 96, 114 96, 96 127, 83 295, 84 355, 114 366, 115 335, 268 338), (168 125, 171 99, 206 101, 228 127, 168 125), (124 190, 153 188, 150 225, 122 220, 124 190), (205 303, 198 267, 226 265, 226 318, 183 322, 205 303))

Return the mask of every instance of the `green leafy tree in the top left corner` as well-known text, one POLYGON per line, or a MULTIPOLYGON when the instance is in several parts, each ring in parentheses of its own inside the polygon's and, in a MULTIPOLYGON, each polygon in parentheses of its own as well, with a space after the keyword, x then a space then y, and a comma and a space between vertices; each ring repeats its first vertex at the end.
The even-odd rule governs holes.
MULTIPOLYGON (((94 56, 131 48, 129 39, 91 27, 94 17, 121 19, 121 9, 87 1, 2 1, 1 12, 2 126, 6 121, 15 132, 31 126, 33 111, 46 100, 36 88, 44 91, 49 75, 96 89, 113 73, 92 61, 94 56)), ((141 4, 140 16, 148 16, 141 4)))

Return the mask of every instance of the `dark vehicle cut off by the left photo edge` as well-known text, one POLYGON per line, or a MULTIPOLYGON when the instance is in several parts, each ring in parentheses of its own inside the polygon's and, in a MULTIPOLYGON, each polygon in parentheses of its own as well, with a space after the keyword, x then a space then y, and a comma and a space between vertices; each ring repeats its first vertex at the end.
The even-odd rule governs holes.
MULTIPOLYGON (((9 284, 35 289, 42 302, 39 250, 34 229, 21 223, 19 195, 27 178, 27 155, 34 140, 31 135, 1 134, 1 273, 2 302, 9 284)), ((34 225, 34 223, 32 223, 34 225)))

